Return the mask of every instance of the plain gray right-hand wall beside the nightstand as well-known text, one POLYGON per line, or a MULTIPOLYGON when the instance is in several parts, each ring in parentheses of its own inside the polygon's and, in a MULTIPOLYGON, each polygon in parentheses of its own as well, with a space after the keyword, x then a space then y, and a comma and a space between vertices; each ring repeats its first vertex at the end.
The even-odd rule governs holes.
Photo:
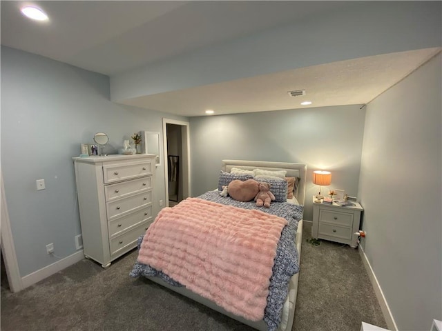
POLYGON ((441 54, 367 105, 363 248, 398 330, 442 320, 441 54))

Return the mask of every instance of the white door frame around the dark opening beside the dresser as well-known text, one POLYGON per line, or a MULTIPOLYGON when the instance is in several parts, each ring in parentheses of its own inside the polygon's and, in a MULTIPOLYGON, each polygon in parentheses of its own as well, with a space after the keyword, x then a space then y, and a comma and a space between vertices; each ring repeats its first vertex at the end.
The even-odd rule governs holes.
POLYGON ((191 143, 189 122, 163 118, 164 188, 166 188, 166 207, 169 207, 169 172, 167 170, 167 124, 175 124, 177 126, 181 126, 183 199, 191 196, 191 143))

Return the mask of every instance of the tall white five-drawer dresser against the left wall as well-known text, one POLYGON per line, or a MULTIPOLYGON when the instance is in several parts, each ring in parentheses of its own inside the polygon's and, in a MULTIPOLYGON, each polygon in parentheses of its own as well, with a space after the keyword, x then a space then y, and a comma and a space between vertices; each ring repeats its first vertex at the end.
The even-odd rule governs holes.
POLYGON ((153 221, 155 154, 73 159, 84 256, 107 268, 153 221))

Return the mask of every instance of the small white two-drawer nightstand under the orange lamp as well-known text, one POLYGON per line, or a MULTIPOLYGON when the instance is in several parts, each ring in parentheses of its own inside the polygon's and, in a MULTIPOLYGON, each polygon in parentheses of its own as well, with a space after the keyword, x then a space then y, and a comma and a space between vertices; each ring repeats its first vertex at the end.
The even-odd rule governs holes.
POLYGON ((358 236, 363 208, 357 202, 352 207, 341 207, 315 202, 313 197, 313 225, 311 237, 347 243, 352 248, 358 247, 358 236))

